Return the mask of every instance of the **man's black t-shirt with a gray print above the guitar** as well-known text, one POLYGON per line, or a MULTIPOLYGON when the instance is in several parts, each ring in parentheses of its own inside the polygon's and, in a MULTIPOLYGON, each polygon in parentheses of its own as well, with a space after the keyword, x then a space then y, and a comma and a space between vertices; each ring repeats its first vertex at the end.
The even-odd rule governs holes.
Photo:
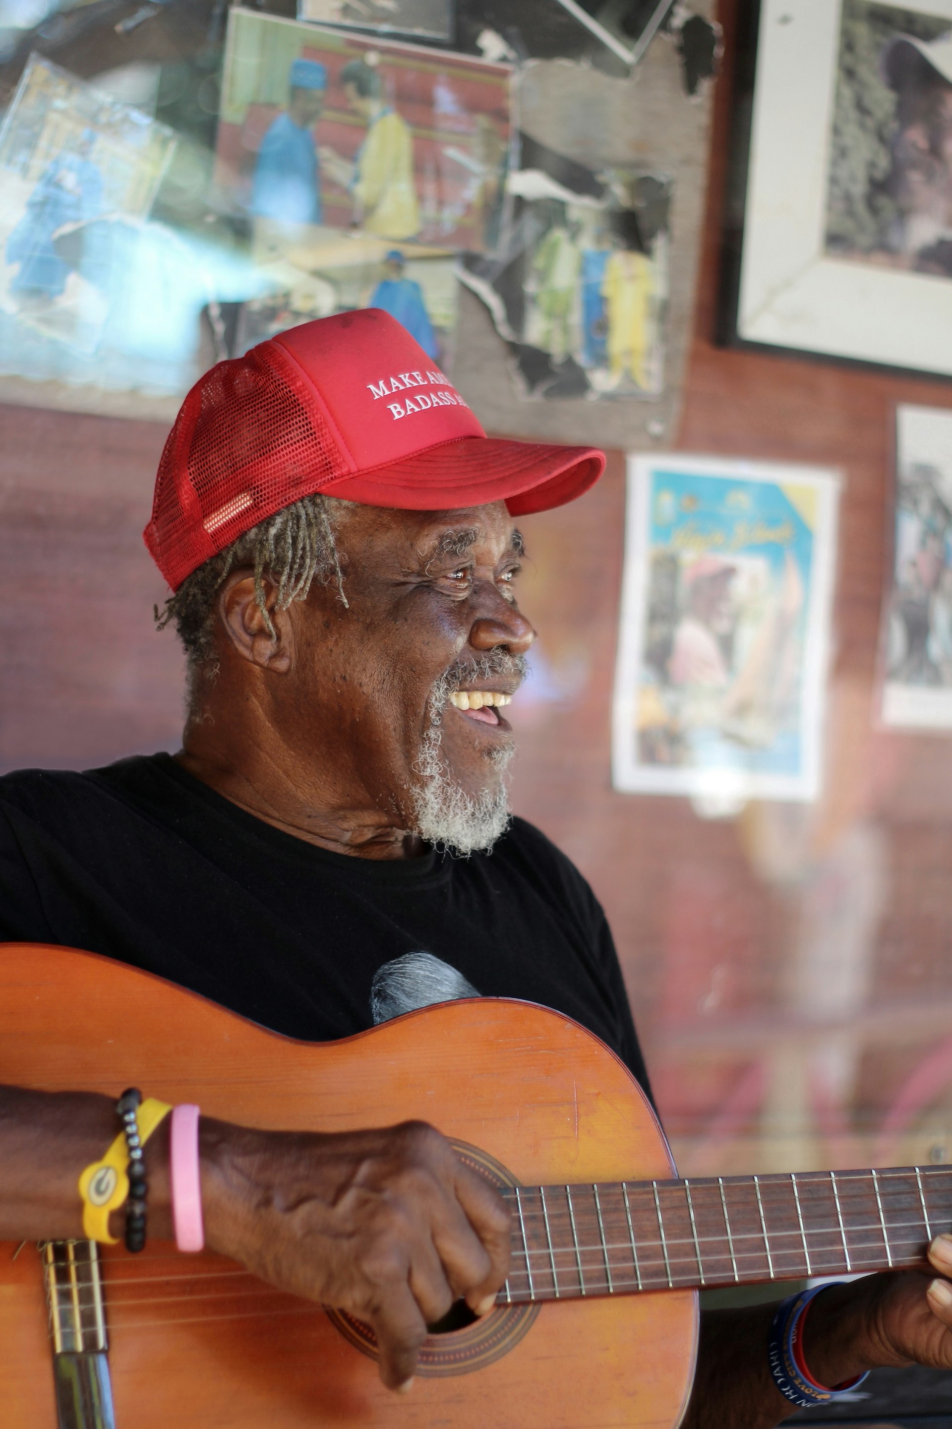
POLYGON ((515 819, 492 855, 376 862, 253 817, 169 755, 0 779, 0 942, 104 953, 286 1036, 475 992, 575 1017, 648 1086, 612 935, 515 819))

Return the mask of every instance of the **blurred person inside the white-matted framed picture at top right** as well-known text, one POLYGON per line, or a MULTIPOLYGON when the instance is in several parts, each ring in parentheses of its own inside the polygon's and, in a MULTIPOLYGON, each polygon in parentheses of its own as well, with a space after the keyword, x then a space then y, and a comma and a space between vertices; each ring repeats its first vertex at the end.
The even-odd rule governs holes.
POLYGON ((952 31, 929 43, 895 36, 882 74, 896 91, 886 180, 901 213, 893 244, 915 267, 952 273, 952 31))

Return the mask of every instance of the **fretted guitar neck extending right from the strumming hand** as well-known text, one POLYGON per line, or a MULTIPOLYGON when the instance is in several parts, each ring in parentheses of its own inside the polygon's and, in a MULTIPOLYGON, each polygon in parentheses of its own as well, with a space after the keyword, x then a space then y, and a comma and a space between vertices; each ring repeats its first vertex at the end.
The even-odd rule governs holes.
POLYGON ((519 1186, 500 1303, 921 1266, 952 1229, 952 1170, 519 1186))

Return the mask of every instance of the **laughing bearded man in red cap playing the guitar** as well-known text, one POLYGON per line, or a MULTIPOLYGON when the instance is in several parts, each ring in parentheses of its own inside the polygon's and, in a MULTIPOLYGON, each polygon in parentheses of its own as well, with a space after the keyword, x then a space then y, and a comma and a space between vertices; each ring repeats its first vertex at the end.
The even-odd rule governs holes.
MULTIPOLYGON (((503 782, 533 640, 513 516, 600 470, 590 449, 486 439, 385 313, 214 367, 169 437, 146 532, 189 654, 183 749, 0 780, 0 937, 122 957, 300 1037, 473 990, 529 997, 643 1079, 605 916, 543 835, 509 822, 503 782)), ((79 1235, 77 1173, 114 1132, 106 1097, 0 1089, 0 1239, 79 1235)), ((487 1309, 503 1282, 507 1216, 429 1127, 286 1136, 203 1117, 200 1156, 209 1246, 369 1320, 392 1388, 427 1323, 456 1298, 487 1309)), ((146 1162, 150 1233, 169 1236, 167 1137, 146 1162)), ((952 1238, 932 1260, 952 1275, 952 1238)), ((948 1302, 946 1280, 916 1273, 829 1289, 808 1363, 829 1385, 952 1366, 948 1302)), ((793 1410, 769 1318, 705 1318, 693 1426, 793 1410)))

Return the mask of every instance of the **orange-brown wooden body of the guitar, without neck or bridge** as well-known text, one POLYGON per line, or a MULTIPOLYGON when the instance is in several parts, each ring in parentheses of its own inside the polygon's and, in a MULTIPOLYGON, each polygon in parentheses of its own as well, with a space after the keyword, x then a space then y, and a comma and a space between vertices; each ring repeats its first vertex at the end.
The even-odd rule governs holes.
MULTIPOLYGON (((136 1085, 274 1129, 419 1117, 525 1185, 673 1175, 626 1067, 583 1027, 519 1002, 445 1003, 302 1043, 109 959, 0 945, 0 1082, 109 1096, 136 1085)), ((3 1425, 56 1429, 40 1255, 14 1252, 0 1243, 3 1425)), ((101 1259, 116 1429, 672 1429, 690 1388, 692 1290, 499 1308, 430 1336, 397 1396, 359 1326, 233 1262, 156 1242, 101 1259)))

